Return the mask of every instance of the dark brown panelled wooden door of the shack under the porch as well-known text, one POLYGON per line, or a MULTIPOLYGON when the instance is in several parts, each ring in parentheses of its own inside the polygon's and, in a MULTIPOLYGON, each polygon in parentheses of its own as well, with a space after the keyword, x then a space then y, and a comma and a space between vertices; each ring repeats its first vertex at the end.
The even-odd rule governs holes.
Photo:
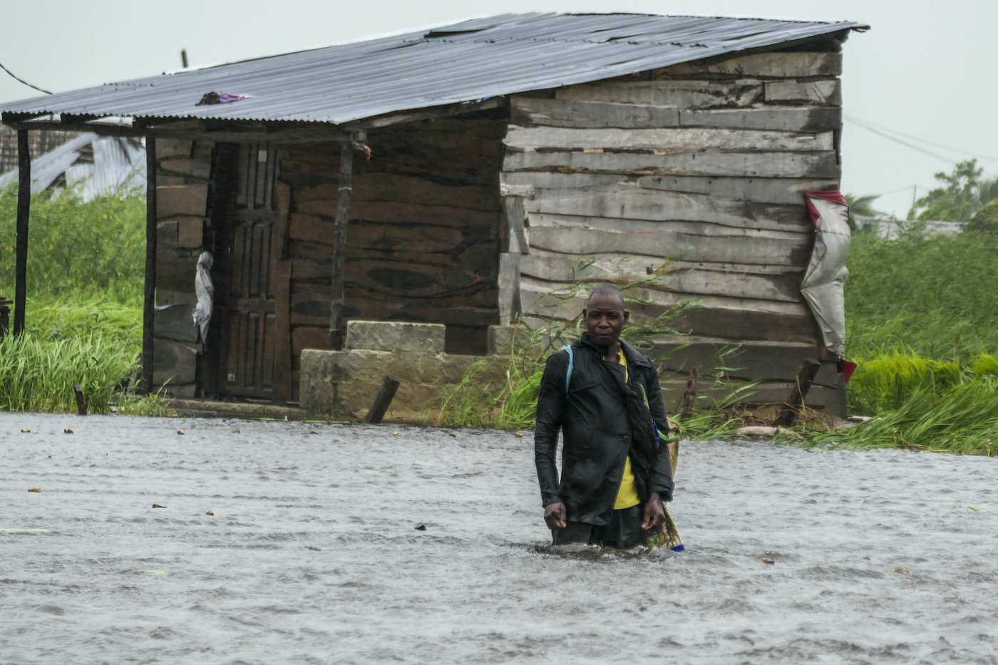
POLYGON ((281 279, 286 188, 276 184, 277 160, 265 144, 241 144, 231 154, 237 165, 227 215, 230 281, 220 382, 227 394, 282 401, 290 398, 289 285, 281 279))

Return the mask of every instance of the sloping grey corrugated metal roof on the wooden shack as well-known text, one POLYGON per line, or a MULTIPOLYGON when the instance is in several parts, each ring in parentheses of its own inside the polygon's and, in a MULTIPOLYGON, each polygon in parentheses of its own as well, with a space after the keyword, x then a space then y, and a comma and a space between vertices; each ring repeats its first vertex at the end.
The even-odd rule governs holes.
POLYGON ((11 113, 311 121, 598 81, 847 29, 848 21, 505 14, 431 30, 36 97, 11 113), (209 92, 253 95, 196 106, 209 92))

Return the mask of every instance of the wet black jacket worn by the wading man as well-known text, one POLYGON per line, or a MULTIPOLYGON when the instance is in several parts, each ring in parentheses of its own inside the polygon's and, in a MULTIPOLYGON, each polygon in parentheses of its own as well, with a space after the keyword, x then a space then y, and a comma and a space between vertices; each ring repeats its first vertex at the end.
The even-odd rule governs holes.
MULTIPOLYGON (((669 425, 659 374, 643 352, 623 339, 621 347, 627 358, 629 385, 636 391, 644 386, 651 416, 665 438, 669 425)), ((574 366, 567 393, 568 351, 554 353, 544 367, 534 433, 537 477, 544 505, 562 502, 569 520, 602 525, 609 523, 613 514, 634 434, 628 417, 624 366, 604 360, 588 333, 572 344, 572 351, 574 366), (560 481, 555 464, 559 429, 565 439, 560 481)), ((635 461, 632 456, 632 465, 635 461)), ((659 492, 663 500, 672 499, 673 473, 665 442, 652 452, 647 473, 635 468, 635 479, 642 502, 652 492, 659 492)))

